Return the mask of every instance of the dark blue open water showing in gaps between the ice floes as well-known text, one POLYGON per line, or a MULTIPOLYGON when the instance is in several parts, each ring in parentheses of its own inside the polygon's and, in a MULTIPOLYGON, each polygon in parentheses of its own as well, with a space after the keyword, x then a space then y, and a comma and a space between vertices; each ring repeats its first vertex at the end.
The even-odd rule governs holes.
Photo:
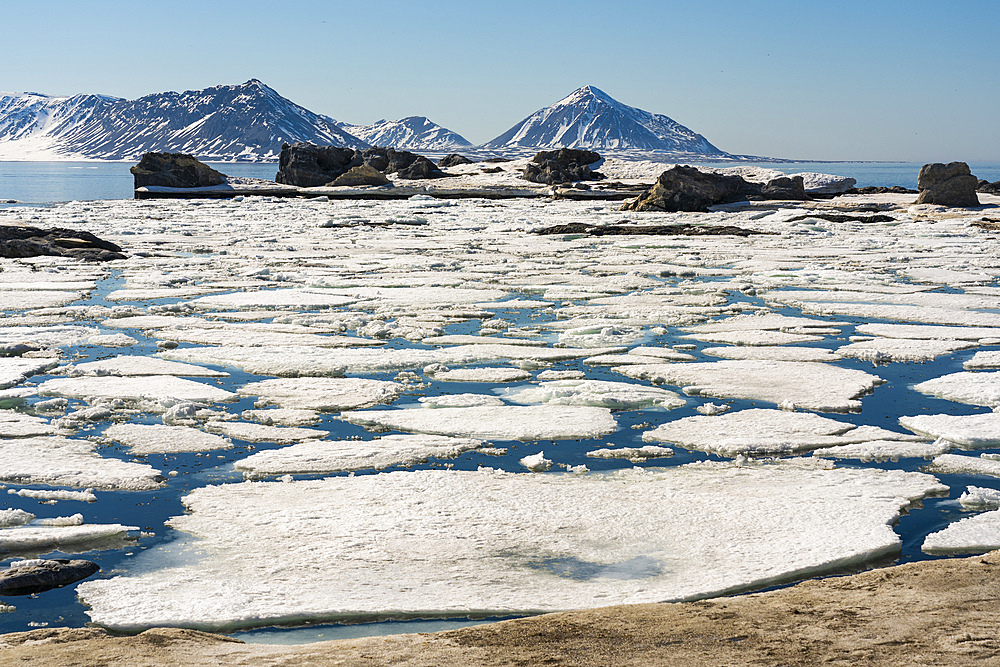
MULTIPOLYGON (((664 283, 670 285, 676 283, 678 278, 666 278, 664 283)), ((122 280, 113 273, 109 279, 98 284, 97 289, 92 293, 90 299, 82 301, 84 304, 94 305, 123 305, 115 302, 105 301, 104 297, 111 291, 120 288, 122 280)), ((531 295, 514 295, 516 297, 531 298, 531 295)), ((164 304, 177 301, 174 300, 154 300, 143 302, 132 302, 133 305, 149 307, 153 304, 164 304)), ((748 297, 744 294, 734 293, 731 295, 733 302, 747 302, 752 305, 763 305, 759 300, 748 297)), ((128 305, 128 304, 125 304, 128 305)), ((792 308, 782 309, 789 315, 801 315, 799 311, 792 308)), ((277 314, 277 313, 276 313, 277 314)), ((530 327, 534 323, 532 311, 529 310, 499 310, 498 317, 514 321, 515 326, 530 327)), ((817 317, 815 319, 827 319, 817 317)), ((872 322, 873 320, 857 320, 850 317, 837 317, 838 321, 861 324, 872 322)), ((99 321, 81 321, 82 325, 99 326, 99 321)), ((477 333, 478 320, 452 325, 447 333, 477 333)), ((119 354, 154 354, 157 350, 156 341, 143 335, 141 330, 123 330, 124 333, 133 336, 140 342, 129 348, 109 349, 98 346, 80 346, 66 350, 65 359, 75 362, 97 360, 117 356, 119 354)), ((674 327, 668 327, 666 333, 652 335, 641 341, 644 345, 675 345, 678 343, 692 343, 687 339, 680 339, 678 336, 683 332, 674 327)), ((810 343, 817 347, 836 348, 847 342, 853 334, 853 325, 842 329, 840 336, 827 337, 822 342, 810 343)), ((715 360, 714 357, 701 355, 700 350, 712 344, 694 342, 695 354, 702 360, 715 360)), ((181 343, 182 347, 188 344, 181 343)), ((421 346, 420 343, 394 340, 387 344, 387 347, 413 347, 421 346)), ((995 349, 981 347, 979 349, 995 349)), ((939 357, 933 362, 927 363, 891 363, 873 367, 871 362, 857 360, 841 360, 832 362, 844 368, 859 368, 868 372, 873 372, 883 379, 886 384, 875 388, 874 392, 863 399, 863 411, 857 414, 830 415, 837 419, 842 419, 854 424, 871 424, 890 430, 904 431, 897 420, 903 415, 914 415, 921 413, 949 413, 949 414, 974 414, 985 412, 988 409, 970 405, 963 405, 932 398, 920 394, 912 389, 915 383, 947 373, 962 370, 962 363, 967 360, 974 350, 956 352, 943 357, 939 357)), ((623 378, 603 367, 584 365, 579 360, 557 363, 553 366, 556 370, 579 369, 586 373, 588 378, 607 379, 622 381, 623 378)), ((235 390, 241 385, 264 379, 262 376, 250 375, 234 368, 224 368, 230 375, 227 378, 208 380, 216 382, 219 386, 235 390)), ((415 369, 418 370, 418 369, 415 369)), ((366 377, 378 379, 392 379, 394 373, 369 374, 366 377)), ((29 379, 28 384, 39 384, 51 376, 41 375, 29 379)), ((449 393, 478 392, 492 394, 497 388, 493 384, 475 383, 447 383, 434 382, 430 387, 414 392, 410 395, 402 396, 395 407, 403 407, 409 404, 416 404, 418 396, 439 395, 449 393)), ((668 387, 677 389, 676 387, 668 387)), ((30 398, 26 401, 21 399, 8 399, 0 404, 3 408, 16 408, 31 412, 31 405, 37 398, 30 398)), ((224 409, 233 414, 240 414, 243 410, 253 408, 254 398, 244 398, 234 403, 220 404, 217 408, 224 409)), ((414 468, 429 469, 441 468, 445 465, 454 466, 458 470, 475 470, 479 466, 492 466, 509 471, 523 471, 519 464, 519 459, 535 454, 540 450, 558 450, 559 463, 569 465, 586 465, 591 470, 607 470, 614 468, 631 467, 634 464, 624 460, 593 459, 585 456, 585 453, 594 449, 599 443, 610 442, 618 447, 640 447, 643 443, 641 436, 643 431, 654 428, 658 424, 666 421, 679 419, 682 417, 697 414, 695 407, 701 404, 702 400, 690 400, 688 405, 666 411, 663 409, 645 409, 617 412, 615 414, 619 424, 618 431, 611 436, 597 440, 584 441, 560 441, 558 446, 552 441, 542 442, 496 442, 497 446, 506 447, 507 452, 500 456, 486 455, 478 452, 466 452, 455 459, 432 460, 426 464, 414 466, 414 468)), ((719 401, 716 401, 719 402, 719 401)), ((725 400, 732 406, 733 410, 740 410, 752 407, 771 407, 767 403, 756 401, 725 400)), ((71 403, 77 403, 71 401, 71 403)), ((156 415, 140 415, 134 421, 141 423, 158 423, 159 417, 156 415)), ((84 428, 77 437, 87 437, 100 434, 107 423, 99 423, 84 428)), ((371 439, 374 434, 366 432, 360 426, 348 424, 336 418, 336 415, 328 415, 323 422, 316 426, 330 432, 329 439, 345 439, 350 437, 371 439)), ((128 548, 112 549, 106 551, 90 551, 73 557, 83 557, 97 562, 101 567, 99 577, 111 577, 119 573, 124 573, 129 569, 133 557, 144 549, 161 547, 167 542, 175 539, 174 531, 167 528, 164 522, 172 516, 182 514, 184 507, 181 504, 181 497, 190 490, 207 484, 224 484, 243 481, 242 475, 233 468, 233 462, 245 458, 253 451, 270 448, 268 444, 255 444, 233 440, 235 445, 229 450, 220 450, 204 453, 183 453, 183 454, 150 454, 145 456, 131 455, 124 447, 118 445, 101 445, 98 451, 106 457, 116 457, 126 460, 136 460, 149 463, 155 468, 164 472, 177 471, 174 477, 168 477, 166 485, 152 491, 142 492, 112 492, 99 491, 98 502, 87 504, 76 501, 60 501, 58 505, 47 507, 38 504, 38 501, 20 498, 18 496, 3 494, 6 507, 21 508, 29 512, 43 516, 49 515, 69 515, 80 512, 84 516, 86 523, 122 523, 126 525, 139 526, 142 529, 142 536, 137 542, 128 548)), ((996 451, 996 450, 982 450, 996 451)), ((645 464, 646 466, 677 466, 692 461, 705 459, 717 459, 714 455, 702 452, 687 451, 677 447, 675 455, 669 458, 654 459, 645 464)), ((878 467, 894 468, 907 471, 917 471, 927 463, 924 459, 902 459, 898 462, 886 463, 862 463, 858 461, 845 460, 838 461, 838 466, 857 467, 878 467)), ((387 471, 395 470, 390 468, 387 471)), ((554 469, 554 471, 557 469, 554 469)), ((375 471, 358 472, 356 474, 374 474, 375 471)), ((296 475, 297 479, 309 478, 309 475, 296 475)), ((947 498, 931 498, 923 503, 923 507, 913 510, 903 516, 895 527, 897 533, 902 538, 902 550, 898 562, 913 560, 923 560, 932 558, 920 551, 923 538, 930 532, 940 530, 956 519, 967 516, 970 513, 964 511, 956 502, 956 499, 965 490, 967 485, 1000 487, 1000 480, 993 478, 971 477, 964 475, 938 475, 938 478, 951 488, 947 498)), ((48 487, 29 487, 48 488, 48 487)), ((65 557, 59 551, 42 554, 49 557, 65 557)), ((3 565, 11 559, 2 561, 3 565)), ((540 567, 545 567, 550 571, 563 573, 571 577, 587 577, 588 564, 586 563, 541 563, 540 567)), ((603 575, 602 575, 603 576, 603 575)), ((347 582, 345 582, 347 583, 347 582)), ((349 583, 347 583, 349 585, 349 583)), ((0 632, 13 632, 28 630, 34 627, 51 626, 82 626, 88 622, 84 606, 76 599, 74 587, 69 586, 63 589, 48 591, 30 597, 7 598, 3 600, 7 604, 16 606, 16 611, 0 614, 0 632)), ((406 621, 384 621, 380 623, 367 623, 358 625, 323 625, 311 626, 302 629, 270 628, 259 629, 250 632, 239 633, 241 639, 246 641, 266 641, 266 642, 305 642, 318 641, 321 639, 347 638, 375 634, 391 634, 399 632, 424 632, 453 627, 461 627, 472 622, 482 622, 481 619, 448 619, 448 620, 406 620, 406 621)))

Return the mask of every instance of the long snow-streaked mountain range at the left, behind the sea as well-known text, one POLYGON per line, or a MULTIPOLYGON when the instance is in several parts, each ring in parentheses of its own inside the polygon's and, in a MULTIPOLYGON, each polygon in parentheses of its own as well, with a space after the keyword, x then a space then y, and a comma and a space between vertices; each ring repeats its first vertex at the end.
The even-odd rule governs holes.
POLYGON ((0 93, 0 159, 138 160, 155 151, 256 162, 295 141, 368 146, 256 79, 137 100, 0 93))

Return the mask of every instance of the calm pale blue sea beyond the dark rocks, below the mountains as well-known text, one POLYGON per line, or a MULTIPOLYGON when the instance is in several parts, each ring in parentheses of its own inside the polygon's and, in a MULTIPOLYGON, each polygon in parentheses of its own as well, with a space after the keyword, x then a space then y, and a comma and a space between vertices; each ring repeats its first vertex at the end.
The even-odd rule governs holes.
MULTIPOLYGON (((0 162, 0 205, 14 200, 46 204, 92 199, 131 199, 133 162, 0 162)), ((274 180, 277 163, 208 163, 227 176, 274 180)), ((709 167, 732 167, 732 162, 705 162, 709 167)), ((916 189, 917 162, 750 162, 786 174, 818 172, 849 176, 858 187, 901 185, 916 189)), ((969 164, 977 178, 1000 180, 1000 162, 969 164)))

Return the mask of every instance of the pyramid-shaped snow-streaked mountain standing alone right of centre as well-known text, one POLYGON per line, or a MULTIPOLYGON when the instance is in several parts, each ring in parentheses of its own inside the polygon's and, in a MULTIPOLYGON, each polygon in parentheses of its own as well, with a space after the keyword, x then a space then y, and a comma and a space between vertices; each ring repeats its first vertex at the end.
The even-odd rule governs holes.
POLYGON ((584 86, 539 109, 484 148, 584 148, 726 155, 705 137, 664 116, 622 104, 584 86))

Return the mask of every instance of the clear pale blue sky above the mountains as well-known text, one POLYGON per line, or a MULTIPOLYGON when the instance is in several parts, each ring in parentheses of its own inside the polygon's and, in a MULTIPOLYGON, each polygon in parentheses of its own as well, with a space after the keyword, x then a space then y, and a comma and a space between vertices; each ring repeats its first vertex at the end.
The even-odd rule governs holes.
POLYGON ((352 123, 486 141, 579 86, 719 148, 1000 161, 1000 2, 9 2, 0 90, 135 98, 259 78, 352 123))

